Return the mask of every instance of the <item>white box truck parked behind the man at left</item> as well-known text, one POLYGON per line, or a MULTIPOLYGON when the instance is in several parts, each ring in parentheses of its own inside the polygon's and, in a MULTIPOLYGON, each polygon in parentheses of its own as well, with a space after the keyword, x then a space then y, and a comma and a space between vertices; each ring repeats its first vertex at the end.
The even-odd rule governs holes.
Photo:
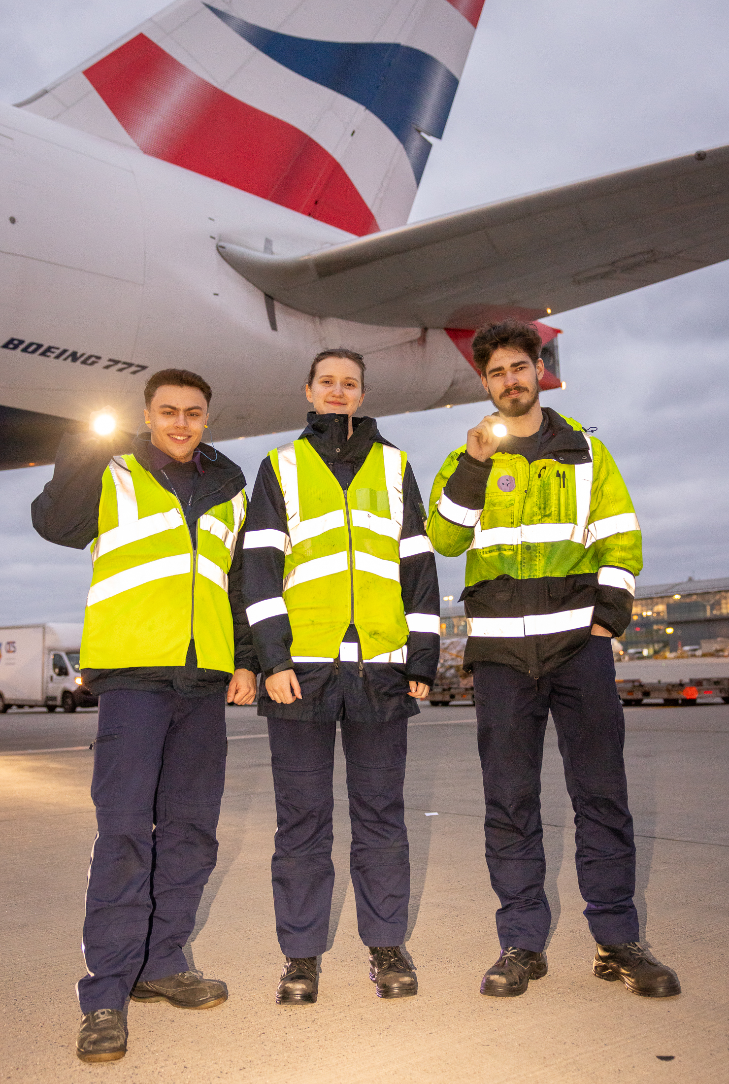
POLYGON ((0 712, 18 708, 95 708, 80 674, 82 624, 0 628, 0 712))

